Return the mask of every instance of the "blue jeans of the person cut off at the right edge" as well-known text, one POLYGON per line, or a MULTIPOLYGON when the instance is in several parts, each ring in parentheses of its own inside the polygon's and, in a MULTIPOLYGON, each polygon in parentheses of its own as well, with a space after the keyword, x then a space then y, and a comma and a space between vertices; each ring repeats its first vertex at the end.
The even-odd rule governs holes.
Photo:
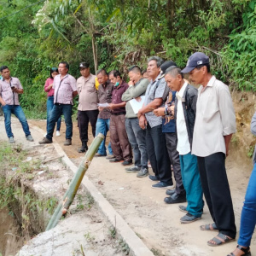
POLYGON ((241 210, 241 225, 238 244, 248 247, 251 244, 256 224, 256 164, 253 166, 245 201, 241 210))

